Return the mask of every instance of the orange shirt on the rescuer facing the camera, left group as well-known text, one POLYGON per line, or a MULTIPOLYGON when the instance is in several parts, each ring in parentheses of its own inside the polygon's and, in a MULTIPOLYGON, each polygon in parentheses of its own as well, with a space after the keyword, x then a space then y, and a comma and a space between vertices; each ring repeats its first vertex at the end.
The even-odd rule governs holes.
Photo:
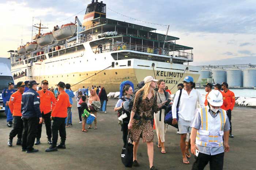
POLYGON ((51 110, 51 102, 53 105, 56 103, 56 99, 54 97, 53 92, 46 90, 44 93, 44 90, 37 91, 40 96, 40 111, 41 113, 44 112, 44 114, 50 113, 51 110))

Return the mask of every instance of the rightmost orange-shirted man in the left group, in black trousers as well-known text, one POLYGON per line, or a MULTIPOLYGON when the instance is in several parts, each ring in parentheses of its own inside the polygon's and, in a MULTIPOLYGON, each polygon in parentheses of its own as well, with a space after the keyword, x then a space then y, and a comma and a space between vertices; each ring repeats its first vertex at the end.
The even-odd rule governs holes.
POLYGON ((60 92, 55 107, 52 110, 51 119, 52 123, 52 145, 45 150, 45 152, 57 151, 57 148, 65 149, 65 141, 66 141, 66 124, 65 119, 67 117, 68 107, 70 106, 69 96, 65 92, 65 83, 59 82, 56 86, 58 86, 58 91, 60 92), (58 131, 60 132, 61 142, 57 146, 58 141, 58 131))

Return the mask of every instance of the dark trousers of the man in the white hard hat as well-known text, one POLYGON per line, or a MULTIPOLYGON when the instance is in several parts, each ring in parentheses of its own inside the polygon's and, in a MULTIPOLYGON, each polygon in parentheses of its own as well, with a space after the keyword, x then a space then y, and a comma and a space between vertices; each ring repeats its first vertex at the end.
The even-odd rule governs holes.
POLYGON ((223 170, 224 152, 217 155, 207 155, 199 153, 192 170, 203 170, 210 162, 210 170, 223 170))

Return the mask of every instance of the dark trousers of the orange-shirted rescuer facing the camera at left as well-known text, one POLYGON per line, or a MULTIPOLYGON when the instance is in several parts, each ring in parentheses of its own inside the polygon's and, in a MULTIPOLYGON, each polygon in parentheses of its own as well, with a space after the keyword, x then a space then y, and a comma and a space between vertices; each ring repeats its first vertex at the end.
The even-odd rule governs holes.
MULTIPOLYGON (((51 113, 47 113, 44 114, 44 112, 42 112, 42 118, 44 118, 45 120, 45 128, 46 128, 46 135, 48 138, 52 138, 52 121, 51 121, 51 113)), ((39 122, 39 118, 38 118, 38 122, 39 122)), ((42 133, 42 123, 38 124, 37 126, 37 136, 36 138, 41 138, 41 133, 42 133)))

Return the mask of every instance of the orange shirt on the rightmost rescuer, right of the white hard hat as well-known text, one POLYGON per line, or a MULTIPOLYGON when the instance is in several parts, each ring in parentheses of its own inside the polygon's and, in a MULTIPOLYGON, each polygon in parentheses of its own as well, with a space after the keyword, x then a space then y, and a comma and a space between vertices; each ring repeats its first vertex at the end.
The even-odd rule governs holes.
POLYGON ((236 100, 235 100, 235 94, 230 91, 227 90, 227 92, 222 91, 222 95, 223 95, 223 106, 221 106, 221 109, 225 109, 225 110, 233 110, 236 100))

